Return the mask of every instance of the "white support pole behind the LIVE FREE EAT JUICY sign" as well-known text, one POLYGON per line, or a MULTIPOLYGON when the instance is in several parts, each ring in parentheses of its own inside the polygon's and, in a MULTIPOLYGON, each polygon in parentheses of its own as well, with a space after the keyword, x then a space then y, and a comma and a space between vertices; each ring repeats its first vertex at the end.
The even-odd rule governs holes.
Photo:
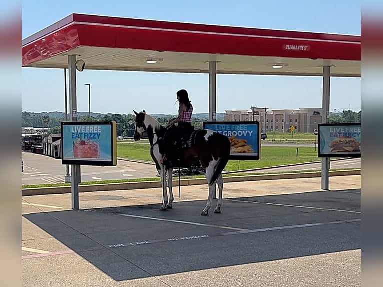
MULTIPOLYGON (((330 112, 330 66, 323 67, 322 123, 328 123, 330 112)), ((329 190, 330 158, 322 158, 322 189, 329 190)))

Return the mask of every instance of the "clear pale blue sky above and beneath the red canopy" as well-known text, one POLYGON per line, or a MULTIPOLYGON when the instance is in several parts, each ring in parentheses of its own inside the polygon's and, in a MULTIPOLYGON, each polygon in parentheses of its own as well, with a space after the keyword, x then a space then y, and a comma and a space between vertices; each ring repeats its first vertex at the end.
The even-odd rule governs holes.
MULTIPOLYGON (((71 13, 360 35, 360 0, 65 0, 22 1, 22 38, 71 13)), ((177 112, 175 92, 189 91, 194 113, 208 112, 208 75, 85 70, 77 73, 77 109, 177 112)), ((330 110, 360 110, 360 78, 332 78, 330 110)), ((321 107, 320 77, 217 75, 217 112, 321 107)), ((62 69, 22 68, 22 111, 64 111, 62 69)))

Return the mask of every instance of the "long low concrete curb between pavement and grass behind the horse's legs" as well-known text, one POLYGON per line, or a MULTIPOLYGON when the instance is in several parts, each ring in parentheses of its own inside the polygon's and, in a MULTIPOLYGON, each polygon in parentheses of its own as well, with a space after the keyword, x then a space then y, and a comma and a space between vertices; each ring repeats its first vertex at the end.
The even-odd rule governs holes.
MULTIPOLYGON (((361 169, 339 170, 339 171, 329 172, 329 176, 346 176, 346 175, 361 175, 361 169)), ((224 177, 224 182, 313 178, 313 177, 321 177, 321 176, 322 174, 320 171, 302 172, 302 173, 250 175, 250 176, 232 176, 232 177, 224 177)), ((180 180, 181 186, 201 185, 201 184, 207 184, 206 178, 180 180)), ((173 180, 173 187, 175 186, 178 186, 178 179, 173 180)), ((143 182, 79 185, 78 191, 79 192, 94 192, 94 191, 131 190, 131 189, 146 189, 146 188, 160 188, 160 187, 161 187, 161 181, 158 180, 158 181, 143 181, 143 182)), ((22 189, 21 196, 64 194, 64 193, 71 193, 71 186, 25 188, 25 189, 22 189)))

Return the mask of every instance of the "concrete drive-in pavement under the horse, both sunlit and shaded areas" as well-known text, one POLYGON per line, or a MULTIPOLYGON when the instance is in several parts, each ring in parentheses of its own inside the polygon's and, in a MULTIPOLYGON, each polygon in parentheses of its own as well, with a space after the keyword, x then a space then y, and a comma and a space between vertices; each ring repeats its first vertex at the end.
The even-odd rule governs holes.
POLYGON ((23 286, 360 286, 360 175, 22 197, 23 286), (175 193, 176 189, 174 190, 175 193))

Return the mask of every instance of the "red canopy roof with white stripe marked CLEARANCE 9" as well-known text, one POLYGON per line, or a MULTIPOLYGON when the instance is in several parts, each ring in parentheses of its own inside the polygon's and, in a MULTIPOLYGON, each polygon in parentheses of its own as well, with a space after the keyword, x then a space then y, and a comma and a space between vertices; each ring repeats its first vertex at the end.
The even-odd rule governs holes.
POLYGON ((22 40, 22 66, 360 77, 360 36, 71 14, 22 40))

